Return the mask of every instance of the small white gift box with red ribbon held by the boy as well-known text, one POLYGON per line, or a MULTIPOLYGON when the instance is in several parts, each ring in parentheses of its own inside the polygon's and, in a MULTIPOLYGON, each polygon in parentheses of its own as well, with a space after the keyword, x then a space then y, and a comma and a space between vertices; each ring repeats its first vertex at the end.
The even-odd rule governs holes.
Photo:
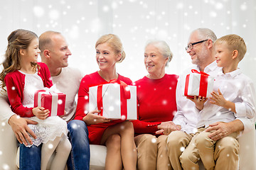
POLYGON ((191 72, 186 76, 184 96, 210 97, 210 93, 213 91, 214 77, 205 72, 198 72, 196 69, 192 69, 191 72))

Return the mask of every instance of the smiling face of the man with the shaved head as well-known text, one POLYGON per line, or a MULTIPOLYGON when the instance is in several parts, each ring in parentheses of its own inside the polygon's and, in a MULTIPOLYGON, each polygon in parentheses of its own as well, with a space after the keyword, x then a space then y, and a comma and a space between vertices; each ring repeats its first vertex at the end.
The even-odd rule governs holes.
POLYGON ((51 63, 53 63, 55 67, 68 67, 68 57, 70 55, 72 55, 72 53, 63 35, 53 35, 50 47, 51 63))

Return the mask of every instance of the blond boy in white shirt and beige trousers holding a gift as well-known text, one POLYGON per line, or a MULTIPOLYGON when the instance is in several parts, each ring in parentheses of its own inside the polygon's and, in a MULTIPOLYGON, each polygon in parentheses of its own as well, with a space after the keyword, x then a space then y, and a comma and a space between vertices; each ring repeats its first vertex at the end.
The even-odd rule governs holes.
POLYGON ((215 157, 218 157, 218 153, 214 153, 215 147, 222 147, 221 142, 229 142, 231 152, 235 152, 236 157, 231 158, 227 154, 227 159, 233 159, 233 164, 238 167, 239 144, 236 138, 239 134, 235 132, 214 141, 208 137, 211 132, 205 130, 211 123, 228 123, 238 117, 255 118, 255 88, 252 80, 238 68, 246 52, 244 40, 238 35, 225 35, 214 45, 215 60, 218 67, 223 67, 223 72, 215 77, 214 91, 209 101, 201 96, 191 99, 199 114, 199 134, 196 135, 196 152, 193 153, 199 154, 206 169, 214 169, 215 157))

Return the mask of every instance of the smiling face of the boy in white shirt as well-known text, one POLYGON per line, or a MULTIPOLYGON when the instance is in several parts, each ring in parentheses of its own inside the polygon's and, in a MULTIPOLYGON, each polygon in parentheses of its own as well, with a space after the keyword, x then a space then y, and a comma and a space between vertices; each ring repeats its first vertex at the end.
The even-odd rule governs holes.
POLYGON ((216 44, 215 52, 215 60, 218 67, 230 67, 233 62, 233 51, 228 48, 228 45, 225 42, 216 44))

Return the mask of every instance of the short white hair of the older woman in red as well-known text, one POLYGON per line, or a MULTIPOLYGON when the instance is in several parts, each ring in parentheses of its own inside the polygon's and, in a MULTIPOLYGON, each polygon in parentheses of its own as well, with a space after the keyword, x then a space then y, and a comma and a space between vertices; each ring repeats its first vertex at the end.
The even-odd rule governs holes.
POLYGON ((148 45, 154 45, 154 47, 159 50, 161 55, 168 58, 168 62, 166 62, 166 66, 168 66, 168 63, 171 62, 171 59, 174 56, 169 45, 164 40, 149 40, 146 42, 145 49, 148 45))

